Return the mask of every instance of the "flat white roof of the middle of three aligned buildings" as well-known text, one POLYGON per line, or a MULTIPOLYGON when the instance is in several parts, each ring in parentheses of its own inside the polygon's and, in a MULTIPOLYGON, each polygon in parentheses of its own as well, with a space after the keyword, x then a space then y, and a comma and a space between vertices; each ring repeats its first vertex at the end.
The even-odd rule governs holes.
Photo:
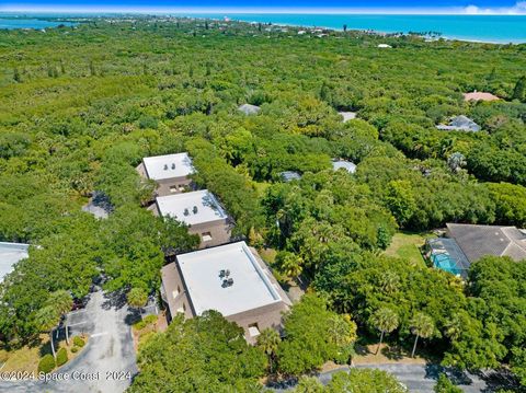
POLYGON ((208 189, 157 197, 156 200, 162 217, 169 216, 188 226, 227 218, 227 213, 208 189))

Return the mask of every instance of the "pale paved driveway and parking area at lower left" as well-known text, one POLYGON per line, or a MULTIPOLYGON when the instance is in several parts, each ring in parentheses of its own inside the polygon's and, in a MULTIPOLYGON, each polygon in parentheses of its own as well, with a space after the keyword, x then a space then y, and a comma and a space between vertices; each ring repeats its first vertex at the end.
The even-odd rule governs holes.
POLYGON ((57 373, 50 374, 69 375, 70 380, 2 382, 0 392, 124 392, 137 373, 130 331, 137 317, 123 297, 108 297, 100 290, 92 293, 84 310, 68 315, 73 334, 90 335, 87 347, 57 373))

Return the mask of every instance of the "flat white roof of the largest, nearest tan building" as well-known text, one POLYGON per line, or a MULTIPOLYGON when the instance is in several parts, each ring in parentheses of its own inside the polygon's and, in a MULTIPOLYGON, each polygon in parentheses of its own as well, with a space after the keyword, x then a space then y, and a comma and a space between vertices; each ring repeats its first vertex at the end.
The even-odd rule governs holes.
POLYGON ((228 316, 282 301, 244 242, 178 255, 178 263, 197 315, 216 310, 228 316), (220 270, 230 270, 231 286, 222 286, 220 270))

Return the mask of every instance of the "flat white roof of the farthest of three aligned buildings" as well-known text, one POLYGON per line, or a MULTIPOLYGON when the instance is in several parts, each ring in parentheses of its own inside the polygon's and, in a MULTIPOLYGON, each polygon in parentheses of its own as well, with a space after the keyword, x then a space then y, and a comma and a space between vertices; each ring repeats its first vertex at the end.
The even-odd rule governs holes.
POLYGON ((188 153, 145 157, 142 162, 148 177, 155 181, 185 177, 195 171, 188 153))

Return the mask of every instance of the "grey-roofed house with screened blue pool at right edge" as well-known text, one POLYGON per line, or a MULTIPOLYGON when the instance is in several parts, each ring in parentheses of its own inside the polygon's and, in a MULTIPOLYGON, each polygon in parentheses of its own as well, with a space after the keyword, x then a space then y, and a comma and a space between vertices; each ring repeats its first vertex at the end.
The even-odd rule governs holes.
POLYGON ((526 231, 515 227, 447 224, 447 238, 427 240, 434 266, 467 277, 469 266, 487 255, 526 261, 526 231))

